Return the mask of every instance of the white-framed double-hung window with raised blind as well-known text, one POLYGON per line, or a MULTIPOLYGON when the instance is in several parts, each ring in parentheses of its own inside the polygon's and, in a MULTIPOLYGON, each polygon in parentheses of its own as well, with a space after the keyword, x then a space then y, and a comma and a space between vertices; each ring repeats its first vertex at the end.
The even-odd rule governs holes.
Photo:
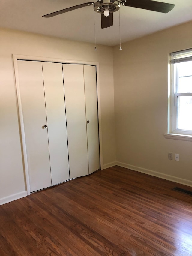
POLYGON ((192 135, 192 49, 171 53, 171 128, 192 135))

